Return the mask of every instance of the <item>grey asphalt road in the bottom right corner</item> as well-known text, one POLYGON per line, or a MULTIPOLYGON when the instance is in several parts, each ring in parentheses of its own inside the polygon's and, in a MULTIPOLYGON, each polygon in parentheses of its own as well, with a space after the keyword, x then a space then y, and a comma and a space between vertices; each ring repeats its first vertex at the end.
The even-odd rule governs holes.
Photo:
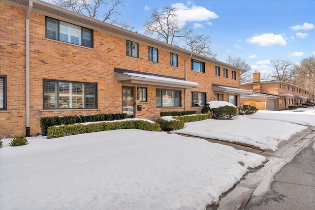
POLYGON ((314 141, 274 176, 263 195, 252 196, 244 210, 315 210, 313 144, 314 141))

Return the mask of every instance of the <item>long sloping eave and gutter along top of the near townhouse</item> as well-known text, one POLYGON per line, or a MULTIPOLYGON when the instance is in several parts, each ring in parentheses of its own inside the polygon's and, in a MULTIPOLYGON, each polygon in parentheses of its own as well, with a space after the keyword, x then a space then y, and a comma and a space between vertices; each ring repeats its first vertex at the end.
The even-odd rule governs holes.
MULTIPOLYGON (((1 2, 5 3, 5 4, 16 6, 16 7, 20 7, 23 9, 28 9, 28 6, 29 6, 29 0, 1 0, 1 2)), ((82 27, 102 31, 102 32, 108 33, 110 35, 114 35, 114 36, 117 36, 120 38, 128 39, 130 41, 137 41, 139 43, 142 43, 142 44, 145 44, 148 46, 152 46, 152 47, 156 47, 158 49, 166 50, 169 52, 174 52, 174 53, 182 55, 182 56, 186 56, 186 57, 191 56, 192 59, 196 59, 199 61, 212 63, 215 65, 225 67, 228 69, 232 69, 235 71, 239 71, 239 72, 247 71, 245 69, 229 65, 229 64, 221 62, 219 60, 211 59, 211 58, 208 58, 206 56, 202 56, 202 55, 193 53, 191 51, 185 50, 183 48, 180 48, 180 47, 177 47, 174 45, 170 45, 170 44, 167 44, 165 42, 158 41, 154 38, 151 38, 151 37, 148 37, 148 36, 145 36, 145 35, 130 31, 130 30, 122 29, 120 27, 117 27, 117 26, 114 26, 114 25, 111 25, 108 23, 104 23, 102 21, 78 14, 78 13, 70 11, 70 10, 63 9, 61 7, 47 3, 45 1, 33 0, 32 11, 39 13, 39 14, 42 14, 42 15, 45 15, 45 16, 49 16, 52 18, 56 18, 56 19, 68 22, 71 24, 80 25, 82 27)))

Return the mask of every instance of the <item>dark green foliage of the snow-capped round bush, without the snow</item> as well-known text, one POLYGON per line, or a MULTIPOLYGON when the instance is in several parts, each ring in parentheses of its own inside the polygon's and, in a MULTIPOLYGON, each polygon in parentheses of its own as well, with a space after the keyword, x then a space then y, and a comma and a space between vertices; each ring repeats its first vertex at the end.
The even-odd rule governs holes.
POLYGON ((204 108, 202 108, 201 112, 210 112, 212 119, 232 119, 234 115, 237 115, 237 108, 233 106, 221 106, 211 109, 209 104, 207 104, 204 108))

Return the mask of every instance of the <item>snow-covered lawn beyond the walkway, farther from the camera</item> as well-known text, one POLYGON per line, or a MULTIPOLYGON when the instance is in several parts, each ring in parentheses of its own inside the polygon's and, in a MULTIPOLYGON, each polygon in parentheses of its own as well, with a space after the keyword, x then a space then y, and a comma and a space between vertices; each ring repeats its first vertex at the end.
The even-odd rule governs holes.
POLYGON ((236 116, 233 120, 188 122, 185 123, 185 128, 171 132, 241 142, 262 150, 275 151, 281 141, 306 129, 304 125, 315 126, 314 110, 258 111, 254 115, 236 116))

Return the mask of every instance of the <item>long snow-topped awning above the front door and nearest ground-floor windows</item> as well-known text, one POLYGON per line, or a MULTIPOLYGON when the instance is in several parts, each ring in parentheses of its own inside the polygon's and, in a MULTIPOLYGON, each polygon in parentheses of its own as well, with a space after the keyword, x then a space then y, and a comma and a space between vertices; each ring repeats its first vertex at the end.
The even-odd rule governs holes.
POLYGON ((154 74, 144 74, 142 72, 130 71, 123 69, 116 69, 116 80, 124 84, 132 85, 147 85, 147 86, 157 86, 157 87, 166 87, 166 88, 180 88, 180 89, 189 89, 200 87, 198 83, 189 82, 186 80, 163 77, 162 75, 154 74), (136 72, 136 73, 135 73, 136 72))

